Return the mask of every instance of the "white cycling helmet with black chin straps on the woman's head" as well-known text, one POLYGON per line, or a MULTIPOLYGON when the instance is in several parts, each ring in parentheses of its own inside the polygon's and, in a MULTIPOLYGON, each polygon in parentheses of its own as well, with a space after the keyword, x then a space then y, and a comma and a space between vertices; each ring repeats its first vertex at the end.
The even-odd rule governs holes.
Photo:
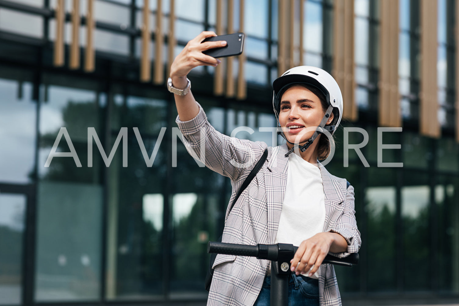
MULTIPOLYGON (((298 66, 291 68, 285 71, 284 74, 275 79, 273 82, 273 109, 278 121, 280 113, 280 99, 285 90, 295 84, 307 84, 316 87, 324 94, 325 102, 329 105, 329 108, 325 112, 325 116, 320 122, 317 131, 314 132, 313 136, 309 138, 305 145, 299 147, 300 150, 304 152, 319 135, 321 130, 327 130, 330 134, 333 134, 336 130, 341 122, 343 113, 343 98, 338 83, 336 83, 336 80, 325 70, 313 66, 298 66), (330 116, 330 113, 334 108, 336 108, 337 116, 335 111, 333 122, 330 125, 325 125, 327 118, 330 116)), ((285 138, 284 133, 281 131, 280 135, 285 138)), ((291 152, 293 152, 292 150, 291 152)), ((291 152, 287 153, 287 155, 291 152)))

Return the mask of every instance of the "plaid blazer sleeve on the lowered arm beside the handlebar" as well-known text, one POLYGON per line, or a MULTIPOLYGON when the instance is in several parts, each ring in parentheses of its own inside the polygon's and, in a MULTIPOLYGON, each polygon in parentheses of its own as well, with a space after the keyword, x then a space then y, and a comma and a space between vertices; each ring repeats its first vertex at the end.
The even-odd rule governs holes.
POLYGON ((347 241, 347 252, 342 253, 332 253, 339 258, 349 256, 350 253, 357 253, 362 244, 362 239, 360 238, 360 232, 357 228, 357 221, 355 220, 355 210, 354 210, 354 187, 349 186, 347 188, 346 199, 344 200, 344 209, 341 216, 336 222, 335 228, 330 230, 330 232, 336 232, 343 236, 347 241))

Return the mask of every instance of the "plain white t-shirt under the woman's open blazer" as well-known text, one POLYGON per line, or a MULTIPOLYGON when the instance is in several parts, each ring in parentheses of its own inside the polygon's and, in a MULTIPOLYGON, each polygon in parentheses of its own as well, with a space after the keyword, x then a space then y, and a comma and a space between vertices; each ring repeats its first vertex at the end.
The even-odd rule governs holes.
MULTIPOLYGON (((303 240, 322 232, 324 223, 325 193, 320 169, 291 153, 275 243, 299 246, 303 240)), ((318 273, 311 278, 318 279, 318 273)))

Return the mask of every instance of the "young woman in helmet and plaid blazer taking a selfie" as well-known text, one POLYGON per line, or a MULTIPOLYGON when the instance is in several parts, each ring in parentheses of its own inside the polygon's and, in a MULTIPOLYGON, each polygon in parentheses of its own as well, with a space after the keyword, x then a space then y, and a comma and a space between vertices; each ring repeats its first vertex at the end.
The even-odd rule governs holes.
MULTIPOLYGON (((201 43, 210 36, 216 34, 202 32, 188 42, 175 58, 168 80, 187 150, 199 157, 205 144, 206 166, 231 179, 231 202, 268 149, 262 169, 231 213, 226 212, 222 242, 298 245, 291 261, 289 305, 341 305, 334 268, 321 263, 329 252, 345 257, 360 248, 354 189, 319 163, 329 155, 330 142, 315 132, 325 130, 330 135, 338 126, 341 91, 320 68, 291 68, 273 83, 274 113, 286 143, 268 147, 225 136, 209 124, 186 78, 194 67, 220 63, 202 53, 226 44, 201 43)), ((269 305, 269 261, 217 255, 214 267, 207 305, 269 305)))

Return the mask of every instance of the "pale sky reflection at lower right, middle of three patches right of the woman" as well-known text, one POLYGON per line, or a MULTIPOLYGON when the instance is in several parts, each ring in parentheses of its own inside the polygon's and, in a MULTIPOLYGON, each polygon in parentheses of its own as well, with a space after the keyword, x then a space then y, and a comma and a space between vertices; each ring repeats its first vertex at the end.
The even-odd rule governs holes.
POLYGON ((402 216, 417 218, 429 204, 429 186, 402 187, 402 216))

